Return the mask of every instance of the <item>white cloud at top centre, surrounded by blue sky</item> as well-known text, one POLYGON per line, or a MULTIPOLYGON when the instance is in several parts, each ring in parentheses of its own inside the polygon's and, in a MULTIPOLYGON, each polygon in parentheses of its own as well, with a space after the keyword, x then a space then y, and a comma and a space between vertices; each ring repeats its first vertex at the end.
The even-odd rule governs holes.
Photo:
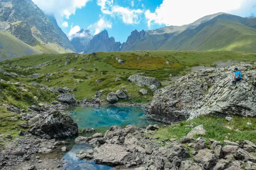
MULTIPOLYGON (((132 2, 134 5, 134 2, 132 2)), ((97 0, 97 5, 101 7, 101 12, 112 17, 119 17, 125 24, 138 24, 140 22, 143 10, 133 10, 129 7, 113 5, 113 0, 97 0)))

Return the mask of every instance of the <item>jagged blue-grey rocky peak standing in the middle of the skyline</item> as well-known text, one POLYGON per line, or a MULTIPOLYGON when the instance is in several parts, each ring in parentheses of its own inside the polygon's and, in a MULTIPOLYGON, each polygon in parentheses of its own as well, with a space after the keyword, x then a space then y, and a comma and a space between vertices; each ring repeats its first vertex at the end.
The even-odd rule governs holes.
POLYGON ((120 47, 121 43, 115 42, 113 37, 108 36, 108 31, 104 30, 90 40, 89 44, 84 48, 84 53, 120 51, 120 47))

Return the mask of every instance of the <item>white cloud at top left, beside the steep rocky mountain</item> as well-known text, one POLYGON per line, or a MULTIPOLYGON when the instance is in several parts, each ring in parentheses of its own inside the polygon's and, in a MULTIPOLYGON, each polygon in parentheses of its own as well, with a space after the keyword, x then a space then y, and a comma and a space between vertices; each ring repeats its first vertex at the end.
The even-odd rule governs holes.
POLYGON ((45 13, 54 14, 56 19, 60 20, 65 16, 69 19, 74 15, 77 9, 86 5, 90 0, 32 0, 45 13))

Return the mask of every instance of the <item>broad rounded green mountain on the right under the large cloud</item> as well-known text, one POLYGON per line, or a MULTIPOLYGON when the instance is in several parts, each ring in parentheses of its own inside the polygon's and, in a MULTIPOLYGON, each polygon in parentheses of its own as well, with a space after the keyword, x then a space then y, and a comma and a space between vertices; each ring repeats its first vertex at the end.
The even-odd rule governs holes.
POLYGON ((234 50, 256 52, 256 18, 219 15, 166 41, 158 50, 234 50))

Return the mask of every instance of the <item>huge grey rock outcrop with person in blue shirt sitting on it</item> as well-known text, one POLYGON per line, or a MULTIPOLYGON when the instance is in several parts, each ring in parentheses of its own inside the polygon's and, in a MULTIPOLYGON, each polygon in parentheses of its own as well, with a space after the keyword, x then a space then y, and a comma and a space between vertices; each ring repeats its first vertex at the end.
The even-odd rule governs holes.
POLYGON ((236 66, 199 70, 179 78, 172 85, 156 90, 147 117, 177 123, 199 115, 256 116, 256 70, 237 62, 236 66), (237 88, 230 86, 233 67, 245 68, 237 88))

